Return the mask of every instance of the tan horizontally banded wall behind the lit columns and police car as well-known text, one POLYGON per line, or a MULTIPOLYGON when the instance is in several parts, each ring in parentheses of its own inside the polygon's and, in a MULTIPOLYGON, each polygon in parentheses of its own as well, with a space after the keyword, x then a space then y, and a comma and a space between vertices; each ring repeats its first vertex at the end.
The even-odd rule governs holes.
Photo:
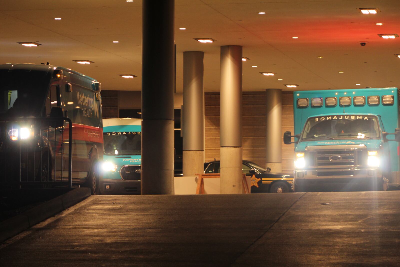
MULTIPOLYGON (((243 92, 242 148, 243 159, 265 166, 265 92, 243 92)), ((205 158, 220 159, 220 95, 205 95, 205 158)), ((282 135, 293 132, 293 94, 282 92, 282 135)), ((293 171, 293 145, 284 145, 282 138, 282 171, 293 171)))

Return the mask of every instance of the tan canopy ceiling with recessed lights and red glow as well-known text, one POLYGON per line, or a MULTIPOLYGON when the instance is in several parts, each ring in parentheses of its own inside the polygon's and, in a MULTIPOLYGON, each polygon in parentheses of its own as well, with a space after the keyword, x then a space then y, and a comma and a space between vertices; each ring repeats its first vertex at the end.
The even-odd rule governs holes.
MULTIPOLYGON (((0 25, 0 64, 50 62, 98 79, 103 90, 141 90, 141 0, 2 0, 0 25)), ((385 33, 400 34, 399 0, 175 0, 176 90, 182 92, 182 52, 198 50, 205 52, 205 91, 219 91, 224 45, 241 45, 250 58, 244 91, 396 87, 400 38, 378 36, 385 33), (379 12, 358 10, 371 7, 379 12), (193 39, 207 37, 217 41, 193 39)))

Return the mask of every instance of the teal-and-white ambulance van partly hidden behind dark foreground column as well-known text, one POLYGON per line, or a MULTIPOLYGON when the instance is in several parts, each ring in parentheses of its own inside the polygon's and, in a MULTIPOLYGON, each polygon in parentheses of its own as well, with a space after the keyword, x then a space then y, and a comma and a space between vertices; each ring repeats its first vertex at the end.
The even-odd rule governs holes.
POLYGON ((141 134, 138 118, 103 120, 102 194, 140 194, 141 134))

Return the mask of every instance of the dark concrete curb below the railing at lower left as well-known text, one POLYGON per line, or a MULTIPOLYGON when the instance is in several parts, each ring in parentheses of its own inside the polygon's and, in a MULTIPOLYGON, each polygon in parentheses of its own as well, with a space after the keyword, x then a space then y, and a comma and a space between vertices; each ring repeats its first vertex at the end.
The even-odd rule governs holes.
POLYGON ((33 225, 79 203, 90 196, 89 188, 76 188, 52 200, 46 201, 29 211, 0 223, 0 242, 21 233, 33 225))

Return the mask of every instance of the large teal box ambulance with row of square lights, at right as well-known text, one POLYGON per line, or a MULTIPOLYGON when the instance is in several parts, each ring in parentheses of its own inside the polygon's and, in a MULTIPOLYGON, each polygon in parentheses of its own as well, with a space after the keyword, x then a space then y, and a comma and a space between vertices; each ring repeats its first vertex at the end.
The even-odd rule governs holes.
POLYGON ((397 88, 294 92, 294 135, 284 133, 285 144, 295 143, 294 191, 398 187, 398 94, 397 88))

